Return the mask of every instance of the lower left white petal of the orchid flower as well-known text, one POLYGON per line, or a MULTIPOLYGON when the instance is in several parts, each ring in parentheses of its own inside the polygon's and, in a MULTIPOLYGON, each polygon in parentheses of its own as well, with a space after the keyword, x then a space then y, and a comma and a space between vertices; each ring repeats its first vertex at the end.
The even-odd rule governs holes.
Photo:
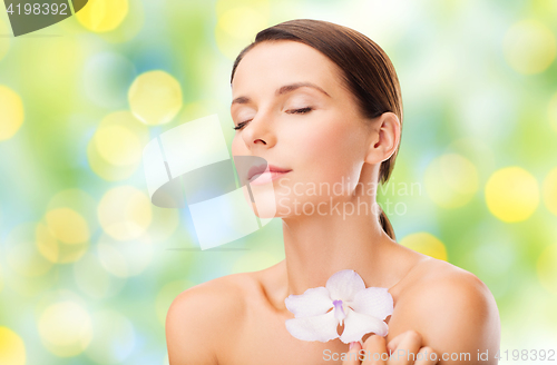
POLYGON ((339 337, 336 326, 339 322, 334 318, 334 310, 313 316, 286 319, 286 329, 297 339, 328 342, 339 337))

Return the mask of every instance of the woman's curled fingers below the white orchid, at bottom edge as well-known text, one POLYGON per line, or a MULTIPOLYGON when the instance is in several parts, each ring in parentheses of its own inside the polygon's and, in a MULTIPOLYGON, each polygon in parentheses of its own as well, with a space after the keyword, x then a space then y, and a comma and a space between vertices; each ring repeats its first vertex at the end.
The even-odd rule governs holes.
POLYGON ((362 346, 355 343, 342 365, 434 365, 439 355, 429 346, 421 347, 421 335, 407 331, 385 346, 384 337, 371 335, 362 346), (389 351, 389 352, 388 352, 389 351), (434 353, 434 355, 432 355, 434 353), (360 354, 361 356, 358 356, 360 354), (374 355, 374 356, 373 356, 374 355), (389 356, 390 355, 390 356, 389 356), (363 359, 363 361, 361 361, 363 359), (414 361, 416 359, 416 361, 414 361))

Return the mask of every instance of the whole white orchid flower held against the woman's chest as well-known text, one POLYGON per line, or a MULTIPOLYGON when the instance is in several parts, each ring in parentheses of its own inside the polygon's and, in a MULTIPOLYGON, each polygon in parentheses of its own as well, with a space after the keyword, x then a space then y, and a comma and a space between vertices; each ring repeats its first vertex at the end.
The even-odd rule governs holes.
POLYGON ((356 272, 340 270, 324 287, 310 288, 284 300, 294 314, 293 319, 286 319, 286 329, 297 339, 323 343, 336 337, 345 344, 359 342, 368 333, 387 336, 389 326, 383 319, 393 310, 388 290, 365 288, 356 272), (336 327, 343 323, 344 329, 339 336, 336 327))

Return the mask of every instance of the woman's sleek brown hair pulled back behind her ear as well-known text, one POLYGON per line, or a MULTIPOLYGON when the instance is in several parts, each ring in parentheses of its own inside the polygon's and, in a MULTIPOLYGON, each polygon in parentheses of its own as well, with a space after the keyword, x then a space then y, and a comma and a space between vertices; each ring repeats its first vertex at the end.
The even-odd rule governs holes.
MULTIPOLYGON (((391 111, 397 115, 402 126, 399 79, 387 53, 364 34, 328 21, 295 19, 260 31, 255 41, 244 48, 234 61, 231 83, 240 61, 247 51, 257 43, 277 40, 302 42, 325 55, 342 70, 344 82, 355 96, 364 117, 377 118, 391 111)), ((389 159, 381 162, 379 182, 389 180, 399 146, 389 159)), ((394 230, 383 209, 379 220, 383 230, 394 239, 394 230)))

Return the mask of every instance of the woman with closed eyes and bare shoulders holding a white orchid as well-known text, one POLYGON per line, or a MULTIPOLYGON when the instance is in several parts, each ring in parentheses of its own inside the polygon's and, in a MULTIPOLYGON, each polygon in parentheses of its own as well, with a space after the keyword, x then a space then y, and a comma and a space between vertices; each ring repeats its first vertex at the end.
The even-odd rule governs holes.
POLYGON ((258 186, 274 189, 285 259, 182 293, 167 316, 170 364, 360 364, 331 354, 358 353, 362 344, 371 353, 441 358, 362 364, 496 364, 499 315, 486 285, 397 244, 385 213, 370 208, 401 138, 401 91, 383 50, 345 27, 287 21, 257 33, 234 62, 231 82, 232 151, 270 164, 258 186), (323 186, 336 190, 315 190, 323 186), (365 287, 389 288, 394 308, 387 337, 350 345, 294 338, 285 299, 343 269, 358 273, 365 287), (488 359, 478 361, 486 352, 488 359))

